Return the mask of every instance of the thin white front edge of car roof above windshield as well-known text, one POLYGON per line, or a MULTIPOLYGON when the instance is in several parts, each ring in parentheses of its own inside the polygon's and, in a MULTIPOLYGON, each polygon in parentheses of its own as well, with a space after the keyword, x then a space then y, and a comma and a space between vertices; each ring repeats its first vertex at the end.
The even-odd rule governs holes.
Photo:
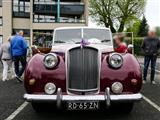
POLYGON ((89 29, 106 29, 106 30, 109 30, 110 31, 110 28, 106 28, 106 27, 59 27, 59 28, 56 28, 55 30, 64 30, 64 29, 84 29, 84 28, 89 28, 89 29))

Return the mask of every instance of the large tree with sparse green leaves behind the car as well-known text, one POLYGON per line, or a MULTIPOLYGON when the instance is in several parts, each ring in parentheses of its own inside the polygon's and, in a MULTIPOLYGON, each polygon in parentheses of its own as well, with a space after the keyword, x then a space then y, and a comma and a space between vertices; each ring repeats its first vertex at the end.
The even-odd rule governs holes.
POLYGON ((122 32, 130 20, 139 18, 146 0, 90 0, 90 16, 98 24, 122 32))

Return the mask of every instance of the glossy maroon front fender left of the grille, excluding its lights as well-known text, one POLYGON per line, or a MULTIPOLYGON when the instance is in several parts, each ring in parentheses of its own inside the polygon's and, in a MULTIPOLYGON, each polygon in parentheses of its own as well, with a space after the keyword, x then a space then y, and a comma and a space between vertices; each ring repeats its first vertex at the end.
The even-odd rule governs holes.
POLYGON ((25 70, 25 88, 27 93, 44 92, 44 86, 53 82, 57 87, 66 90, 66 69, 62 56, 59 55, 59 64, 53 70, 47 70, 43 64, 45 54, 36 54, 27 64, 25 70), (29 85, 29 80, 35 79, 34 85, 29 85))

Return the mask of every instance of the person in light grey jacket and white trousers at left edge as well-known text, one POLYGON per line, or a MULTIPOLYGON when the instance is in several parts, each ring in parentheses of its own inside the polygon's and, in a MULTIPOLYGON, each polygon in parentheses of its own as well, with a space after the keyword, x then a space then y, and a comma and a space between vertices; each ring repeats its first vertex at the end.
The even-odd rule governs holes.
MULTIPOLYGON (((3 43, 1 46, 0 56, 3 64, 3 75, 2 81, 7 81, 8 79, 8 70, 9 66, 12 66, 12 57, 10 52, 10 41, 11 37, 8 38, 6 43, 3 43)), ((12 66, 13 67, 13 66, 12 66)), ((12 74, 14 74, 14 68, 12 68, 12 74)))

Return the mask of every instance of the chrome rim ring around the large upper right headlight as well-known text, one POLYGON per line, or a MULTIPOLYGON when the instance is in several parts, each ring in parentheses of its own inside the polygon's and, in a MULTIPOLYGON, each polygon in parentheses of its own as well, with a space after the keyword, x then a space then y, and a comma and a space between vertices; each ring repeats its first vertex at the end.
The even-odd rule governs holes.
POLYGON ((114 69, 119 69, 119 68, 121 68, 122 65, 123 65, 123 57, 122 57, 122 55, 119 54, 119 53, 112 53, 112 54, 109 55, 108 62, 109 62, 109 65, 110 65, 112 68, 114 68, 114 69), (118 64, 117 66, 115 66, 114 64, 112 64, 113 57, 116 56, 116 55, 121 59, 120 64, 118 64))

